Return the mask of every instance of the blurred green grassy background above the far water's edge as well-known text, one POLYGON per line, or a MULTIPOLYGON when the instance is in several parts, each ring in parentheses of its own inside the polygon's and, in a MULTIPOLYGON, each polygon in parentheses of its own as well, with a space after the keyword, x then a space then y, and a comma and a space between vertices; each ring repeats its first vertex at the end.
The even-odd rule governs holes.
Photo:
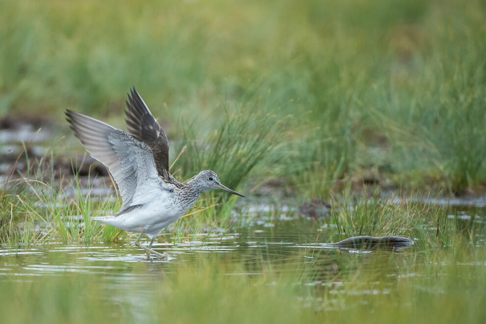
POLYGON ((135 86, 172 157, 193 144, 184 176, 226 150, 240 155, 220 175, 308 196, 485 186, 485 1, 5 0, 0 17, 0 116, 67 134, 69 108, 123 127, 135 86))

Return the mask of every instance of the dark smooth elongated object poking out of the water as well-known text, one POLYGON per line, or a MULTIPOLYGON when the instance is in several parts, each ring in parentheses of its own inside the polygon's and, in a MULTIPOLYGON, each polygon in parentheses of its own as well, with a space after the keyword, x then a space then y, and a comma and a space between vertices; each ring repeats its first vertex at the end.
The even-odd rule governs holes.
POLYGON ((409 248, 412 244, 412 240, 403 236, 353 236, 330 245, 349 249, 393 249, 398 251, 401 248, 409 248))

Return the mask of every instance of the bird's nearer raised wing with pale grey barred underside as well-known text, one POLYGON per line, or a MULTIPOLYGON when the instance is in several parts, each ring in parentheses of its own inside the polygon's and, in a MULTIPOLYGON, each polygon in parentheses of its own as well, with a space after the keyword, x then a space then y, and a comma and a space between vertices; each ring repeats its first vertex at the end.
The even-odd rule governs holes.
POLYGON ((152 150, 129 133, 86 115, 66 110, 67 121, 91 156, 107 166, 123 206, 145 202, 161 190, 173 190, 157 173, 152 150))

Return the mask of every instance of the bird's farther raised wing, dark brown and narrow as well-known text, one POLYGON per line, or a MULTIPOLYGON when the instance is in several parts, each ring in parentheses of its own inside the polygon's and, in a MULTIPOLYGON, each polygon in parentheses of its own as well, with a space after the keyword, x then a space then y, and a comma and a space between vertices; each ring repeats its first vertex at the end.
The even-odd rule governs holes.
POLYGON ((154 155, 157 172, 166 181, 172 182, 169 173, 169 144, 161 125, 157 123, 135 87, 128 94, 125 120, 128 131, 140 142, 147 144, 154 155))

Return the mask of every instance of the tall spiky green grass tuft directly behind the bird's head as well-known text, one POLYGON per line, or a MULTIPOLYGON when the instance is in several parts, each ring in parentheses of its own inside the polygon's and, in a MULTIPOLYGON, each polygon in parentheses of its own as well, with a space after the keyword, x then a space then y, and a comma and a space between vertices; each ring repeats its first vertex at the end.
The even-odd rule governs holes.
POLYGON ((206 121, 183 121, 180 127, 184 137, 175 150, 182 153, 171 171, 178 172, 176 175, 185 181, 201 170, 211 169, 235 190, 248 182, 255 169, 260 168, 256 171, 262 174, 262 169, 275 162, 275 146, 279 144, 276 135, 284 123, 262 112, 262 108, 258 103, 225 107, 220 125, 207 135, 206 121))

